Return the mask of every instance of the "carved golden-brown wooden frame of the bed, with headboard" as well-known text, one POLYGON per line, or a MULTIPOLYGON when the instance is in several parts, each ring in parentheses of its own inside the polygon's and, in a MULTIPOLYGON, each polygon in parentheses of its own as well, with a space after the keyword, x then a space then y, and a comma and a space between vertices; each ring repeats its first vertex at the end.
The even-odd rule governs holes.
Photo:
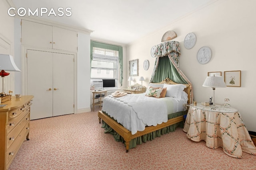
MULTIPOLYGON (((169 78, 164 79, 164 81, 156 84, 178 84, 170 80, 169 78)), ((188 94, 188 104, 190 104, 190 91, 191 91, 191 86, 189 84, 184 84, 187 87, 184 89, 184 91, 188 94)), ((120 136, 124 138, 125 145, 126 145, 126 152, 129 150, 129 145, 130 141, 132 139, 135 139, 136 137, 140 137, 142 135, 146 135, 148 133, 151 133, 153 131, 162 129, 164 127, 168 127, 170 125, 173 125, 175 123, 183 121, 183 115, 174 117, 172 119, 168 119, 166 123, 158 124, 157 126, 146 126, 144 131, 137 131, 134 135, 130 131, 128 131, 125 127, 114 121, 111 117, 108 115, 104 114, 102 111, 98 111, 98 119, 99 123, 100 120, 102 119, 105 121, 112 129, 114 129, 120 136)))

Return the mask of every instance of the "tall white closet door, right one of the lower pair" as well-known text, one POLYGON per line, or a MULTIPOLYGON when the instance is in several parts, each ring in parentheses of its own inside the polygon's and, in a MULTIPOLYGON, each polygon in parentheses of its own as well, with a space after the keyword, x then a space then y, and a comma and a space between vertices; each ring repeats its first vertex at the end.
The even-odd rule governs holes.
POLYGON ((53 116, 74 113, 74 55, 53 54, 53 116))

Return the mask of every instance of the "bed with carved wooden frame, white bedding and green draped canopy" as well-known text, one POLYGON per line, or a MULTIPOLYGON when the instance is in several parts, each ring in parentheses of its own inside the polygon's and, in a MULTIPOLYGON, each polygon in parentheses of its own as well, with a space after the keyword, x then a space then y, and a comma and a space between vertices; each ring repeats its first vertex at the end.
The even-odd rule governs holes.
POLYGON ((112 133, 116 141, 125 143, 126 152, 137 144, 183 127, 183 108, 192 103, 192 84, 179 69, 179 42, 157 45, 154 55, 156 62, 148 90, 161 94, 148 97, 151 91, 147 90, 120 98, 110 95, 104 98, 102 111, 98 111, 105 133, 112 133), (166 95, 162 96, 162 90, 166 95))

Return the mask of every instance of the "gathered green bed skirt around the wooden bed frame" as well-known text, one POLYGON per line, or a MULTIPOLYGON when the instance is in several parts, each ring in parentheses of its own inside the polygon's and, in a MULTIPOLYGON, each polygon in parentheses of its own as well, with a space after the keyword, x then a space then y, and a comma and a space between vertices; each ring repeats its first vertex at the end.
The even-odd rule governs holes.
MULTIPOLYGON (((104 111, 103 111, 104 112, 104 111)), ((104 112, 105 113, 105 112, 104 112)), ((106 114, 106 113, 105 113, 106 114)), ((177 112, 177 113, 172 113, 172 114, 169 114, 168 115, 168 119, 172 119, 174 117, 178 117, 178 116, 181 116, 181 115, 184 115, 186 114, 185 112, 183 111, 180 111, 180 112, 177 112)), ((108 115, 109 116, 109 115, 108 115)), ((112 118, 113 119, 113 118, 112 118)), ((115 120, 115 119, 113 119, 115 120)), ((104 122, 102 120, 102 128, 105 129, 104 133, 110 133, 114 136, 114 139, 115 141, 118 141, 118 142, 122 142, 124 143, 125 145, 125 141, 124 141, 124 138, 122 136, 120 136, 114 129, 112 129, 112 127, 110 127, 106 122, 104 122)), ((135 139, 132 139, 130 141, 130 145, 129 145, 129 149, 131 148, 135 148, 137 145, 140 145, 142 144, 143 142, 146 143, 147 141, 152 141, 154 140, 156 137, 160 137, 161 135, 164 135, 164 134, 167 134, 167 133, 170 133, 170 132, 174 132, 176 130, 177 127, 181 127, 183 128, 183 122, 179 122, 179 123, 176 123, 174 125, 170 125, 168 127, 164 127, 162 129, 159 129, 157 131, 154 131, 154 132, 151 132, 151 133, 148 133, 146 135, 142 135, 140 137, 137 137, 135 139)))

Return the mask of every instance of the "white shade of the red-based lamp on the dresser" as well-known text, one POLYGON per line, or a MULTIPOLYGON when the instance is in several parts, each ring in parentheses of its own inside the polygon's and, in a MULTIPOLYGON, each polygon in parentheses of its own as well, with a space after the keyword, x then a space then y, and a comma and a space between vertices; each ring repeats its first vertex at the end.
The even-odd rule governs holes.
POLYGON ((14 59, 11 55, 0 54, 0 66, 0 70, 20 71, 20 69, 14 63, 14 59))

